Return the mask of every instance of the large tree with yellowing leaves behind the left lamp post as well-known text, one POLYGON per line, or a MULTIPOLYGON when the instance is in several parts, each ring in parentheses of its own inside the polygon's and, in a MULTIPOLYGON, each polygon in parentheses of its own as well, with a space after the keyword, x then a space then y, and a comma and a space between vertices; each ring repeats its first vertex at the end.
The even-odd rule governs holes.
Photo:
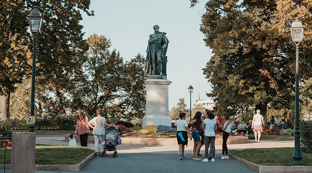
POLYGON ((0 2, 0 118, 10 115, 10 93, 31 76, 32 39, 27 15, 39 6, 44 22, 37 35, 36 84, 51 92, 55 110, 64 111, 75 80, 82 74, 88 45, 82 37, 81 11, 89 12, 90 0, 4 0, 0 2), (40 77, 41 76, 41 77, 40 77))

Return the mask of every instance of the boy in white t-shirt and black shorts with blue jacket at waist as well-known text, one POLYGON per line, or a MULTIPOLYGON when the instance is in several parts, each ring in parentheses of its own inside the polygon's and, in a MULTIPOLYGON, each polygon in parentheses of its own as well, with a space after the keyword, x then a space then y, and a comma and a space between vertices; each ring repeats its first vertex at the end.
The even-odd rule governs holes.
POLYGON ((176 120, 174 124, 177 127, 177 140, 180 152, 179 160, 188 159, 184 157, 184 146, 188 146, 188 135, 190 135, 190 140, 192 140, 190 129, 188 128, 188 122, 185 121, 185 115, 184 112, 181 112, 179 114, 180 119, 176 120))

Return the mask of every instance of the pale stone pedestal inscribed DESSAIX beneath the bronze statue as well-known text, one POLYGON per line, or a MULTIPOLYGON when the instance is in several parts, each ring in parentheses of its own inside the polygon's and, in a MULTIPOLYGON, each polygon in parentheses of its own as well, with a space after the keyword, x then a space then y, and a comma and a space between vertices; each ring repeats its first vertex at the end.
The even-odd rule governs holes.
POLYGON ((143 118, 143 127, 147 125, 171 126, 168 115, 168 79, 147 79, 146 108, 143 118))

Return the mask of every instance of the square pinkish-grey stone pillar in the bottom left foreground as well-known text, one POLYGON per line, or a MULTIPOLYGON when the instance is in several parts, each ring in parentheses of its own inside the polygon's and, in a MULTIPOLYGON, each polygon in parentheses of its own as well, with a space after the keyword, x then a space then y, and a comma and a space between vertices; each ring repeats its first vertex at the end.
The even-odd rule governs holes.
POLYGON ((35 172, 36 133, 12 132, 11 173, 35 172))

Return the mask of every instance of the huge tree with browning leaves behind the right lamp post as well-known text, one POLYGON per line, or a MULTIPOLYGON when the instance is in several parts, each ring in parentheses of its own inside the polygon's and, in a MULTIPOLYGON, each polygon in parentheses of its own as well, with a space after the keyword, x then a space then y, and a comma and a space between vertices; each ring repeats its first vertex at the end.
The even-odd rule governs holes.
MULTIPOLYGON (((191 0, 191 7, 198 1, 191 0)), ((213 56, 203 69, 218 110, 255 105, 285 107, 294 99, 295 45, 289 26, 299 16, 306 26, 300 44, 300 81, 311 75, 312 4, 308 0, 210 0, 200 30, 213 56)))

